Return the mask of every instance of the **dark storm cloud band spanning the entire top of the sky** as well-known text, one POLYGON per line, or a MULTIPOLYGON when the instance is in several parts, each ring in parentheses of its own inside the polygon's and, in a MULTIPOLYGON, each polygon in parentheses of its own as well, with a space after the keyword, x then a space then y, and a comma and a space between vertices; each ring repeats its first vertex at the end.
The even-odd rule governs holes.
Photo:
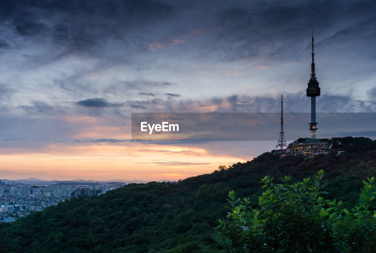
MULTIPOLYGON (((317 30, 318 34, 324 34, 330 27, 340 27, 326 39, 328 43, 354 36, 358 39, 359 36, 369 38, 375 34, 372 29, 376 22, 373 17, 375 10, 374 1, 338 0, 270 3, 233 1, 231 4, 193 1, 190 6, 179 1, 150 0, 6 0, 2 3, 0 14, 2 20, 11 22, 14 30, 22 36, 43 36, 70 50, 93 54, 101 50, 92 51, 92 47, 102 45, 108 39, 145 48, 152 41, 136 41, 132 38, 128 32, 135 28, 146 33, 150 29, 165 33, 169 29, 179 30, 182 26, 203 28, 204 33, 212 34, 206 37, 208 41, 200 42, 204 51, 215 48, 223 54, 224 60, 236 60, 254 58, 261 53, 271 58, 292 57, 294 51, 296 55, 293 41, 306 39, 308 27, 317 30), (213 6, 213 3, 216 5, 213 6), (212 11, 203 12, 206 8, 212 11), (199 20, 187 16, 190 11, 196 10, 205 15, 201 15, 199 20), (349 24, 344 21, 345 18, 355 22, 349 24), (157 23, 161 20, 170 22, 167 26, 158 27, 157 23), (230 44, 237 46, 230 47, 230 44), (267 52, 260 48, 267 49, 267 52)), ((181 34, 184 32, 188 31, 184 30, 181 34)), ((162 42, 168 41, 172 36, 169 34, 160 39, 162 42)), ((207 55, 208 52, 204 51, 201 53, 207 55)))

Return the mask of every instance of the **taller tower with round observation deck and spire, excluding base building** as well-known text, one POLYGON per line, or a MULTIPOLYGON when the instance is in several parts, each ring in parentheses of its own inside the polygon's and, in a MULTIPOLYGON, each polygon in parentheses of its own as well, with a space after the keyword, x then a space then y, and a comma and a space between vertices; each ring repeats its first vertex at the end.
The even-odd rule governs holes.
POLYGON ((306 89, 307 97, 311 97, 311 123, 309 123, 309 130, 311 130, 311 139, 316 139, 316 97, 320 95, 320 87, 316 79, 315 61, 313 52, 313 30, 312 30, 312 63, 311 63, 311 77, 309 78, 308 88, 306 89))

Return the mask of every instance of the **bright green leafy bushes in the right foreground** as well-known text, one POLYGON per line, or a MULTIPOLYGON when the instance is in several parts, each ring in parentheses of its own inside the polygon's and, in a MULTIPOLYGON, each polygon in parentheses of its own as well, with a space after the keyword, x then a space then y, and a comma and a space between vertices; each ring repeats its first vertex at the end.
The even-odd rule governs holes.
MULTIPOLYGON (((235 198, 230 191, 228 220, 220 220, 214 240, 227 252, 374 252, 376 247, 376 189, 374 177, 363 181, 359 204, 351 211, 342 201, 327 200, 322 194, 323 170, 314 179, 281 184, 261 179, 266 191, 259 197, 260 208, 250 200, 235 198), (239 203, 239 204, 237 204, 239 203)), ((212 252, 201 246, 204 252, 212 252)))

